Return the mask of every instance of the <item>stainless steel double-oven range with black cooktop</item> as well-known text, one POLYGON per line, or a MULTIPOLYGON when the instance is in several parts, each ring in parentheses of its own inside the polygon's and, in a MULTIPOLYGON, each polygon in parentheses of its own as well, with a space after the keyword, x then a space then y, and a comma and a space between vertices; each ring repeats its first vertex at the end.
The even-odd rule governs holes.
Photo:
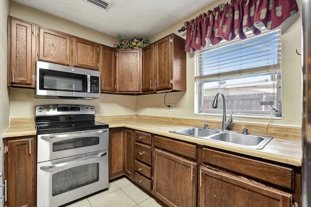
POLYGON ((108 188, 109 126, 94 115, 94 106, 36 106, 38 207, 108 188))

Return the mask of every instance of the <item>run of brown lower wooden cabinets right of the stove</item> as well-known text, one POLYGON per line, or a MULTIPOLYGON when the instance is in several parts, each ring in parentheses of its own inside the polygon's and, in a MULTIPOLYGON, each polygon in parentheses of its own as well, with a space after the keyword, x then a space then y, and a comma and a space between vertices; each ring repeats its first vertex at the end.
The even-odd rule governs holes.
POLYGON ((138 130, 109 135, 109 178, 125 174, 169 207, 301 205, 301 167, 138 130))

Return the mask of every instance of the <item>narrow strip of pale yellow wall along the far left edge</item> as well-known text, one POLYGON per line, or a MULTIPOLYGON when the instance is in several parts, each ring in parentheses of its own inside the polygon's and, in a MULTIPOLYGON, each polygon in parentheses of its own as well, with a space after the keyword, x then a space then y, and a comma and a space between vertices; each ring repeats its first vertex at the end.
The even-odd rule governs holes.
MULTIPOLYGON (((10 13, 10 0, 0 0, 0 133, 9 126, 10 118, 10 96, 7 83, 7 24, 8 14, 10 13)), ((2 145, 2 139, 0 140, 2 145)), ((2 156, 0 156, 0 163, 2 163, 2 156)), ((1 166, 1 165, 0 165, 1 166)), ((0 169, 2 169, 0 167, 0 169)), ((2 172, 0 170, 0 172, 2 172)))

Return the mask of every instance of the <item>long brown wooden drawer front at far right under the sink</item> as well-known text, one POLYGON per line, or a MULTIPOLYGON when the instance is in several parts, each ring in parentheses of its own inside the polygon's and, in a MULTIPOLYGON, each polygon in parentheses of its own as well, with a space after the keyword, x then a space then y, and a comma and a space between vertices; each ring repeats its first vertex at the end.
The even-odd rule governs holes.
POLYGON ((248 175, 262 181, 294 189, 294 170, 271 163, 203 148, 203 162, 248 175))

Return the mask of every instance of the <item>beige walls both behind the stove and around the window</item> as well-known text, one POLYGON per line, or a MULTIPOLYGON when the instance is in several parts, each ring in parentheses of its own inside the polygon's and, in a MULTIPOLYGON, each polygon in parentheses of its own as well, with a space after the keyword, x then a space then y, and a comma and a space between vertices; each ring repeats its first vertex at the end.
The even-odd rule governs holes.
MULTIPOLYGON (((185 38, 185 33, 177 33, 177 30, 188 21, 203 12, 207 12, 224 0, 217 0, 207 7, 197 11, 191 16, 174 24, 166 30, 150 37, 152 42, 174 32, 185 38)), ((297 0, 301 10, 301 0, 297 0)), ((23 6, 16 2, 11 2, 11 16, 16 16, 43 26, 47 26, 62 32, 67 32, 76 36, 93 40, 108 46, 113 46, 116 38, 110 37, 100 32, 93 31, 81 25, 67 20, 51 16, 47 13, 23 6)), ((282 25, 282 119, 272 120, 272 124, 301 126, 301 59, 295 54, 295 48, 300 51, 301 45, 301 11, 291 17, 282 25)), ((53 100, 35 99, 34 90, 11 89, 11 117, 32 117, 34 107, 39 104, 49 103, 82 103, 93 104, 97 108, 97 115, 121 115, 121 114, 145 114, 162 115, 186 118, 221 120, 220 116, 204 116, 194 114, 194 56, 187 54, 187 92, 168 93, 166 103, 174 103, 174 111, 167 111, 164 105, 164 94, 144 95, 144 96, 121 96, 102 95, 102 98, 91 101, 78 100, 53 100), (20 108, 27 107, 29 110, 20 112, 20 108)), ((268 119, 237 118, 234 121, 253 122, 268 124, 268 119)))

